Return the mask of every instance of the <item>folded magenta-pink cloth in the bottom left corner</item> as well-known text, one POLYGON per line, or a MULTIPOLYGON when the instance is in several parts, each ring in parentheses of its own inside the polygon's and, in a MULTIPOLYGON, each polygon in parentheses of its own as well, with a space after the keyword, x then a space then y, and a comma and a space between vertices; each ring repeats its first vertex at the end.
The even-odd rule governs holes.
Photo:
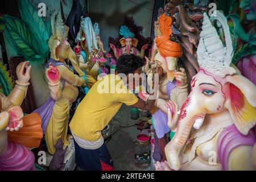
POLYGON ((0 156, 0 171, 35 171, 34 162, 33 152, 9 140, 6 150, 0 156))

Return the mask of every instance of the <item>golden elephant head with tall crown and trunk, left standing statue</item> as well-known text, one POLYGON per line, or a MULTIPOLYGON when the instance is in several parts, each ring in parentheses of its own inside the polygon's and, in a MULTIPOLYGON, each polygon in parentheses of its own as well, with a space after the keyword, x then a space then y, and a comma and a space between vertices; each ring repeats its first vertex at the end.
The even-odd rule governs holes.
POLYGON ((57 13, 57 11, 55 11, 51 17, 51 24, 52 36, 48 42, 51 51, 51 58, 61 62, 69 59, 76 72, 79 73, 80 76, 83 76, 84 73, 79 68, 76 53, 71 48, 67 39, 69 27, 64 25, 60 12, 57 13))

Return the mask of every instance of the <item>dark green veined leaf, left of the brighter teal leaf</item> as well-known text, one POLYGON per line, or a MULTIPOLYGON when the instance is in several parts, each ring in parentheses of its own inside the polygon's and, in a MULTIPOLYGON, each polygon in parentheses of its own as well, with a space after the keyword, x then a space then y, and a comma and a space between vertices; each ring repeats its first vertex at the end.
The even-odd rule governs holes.
POLYGON ((45 55, 39 55, 34 47, 39 47, 28 31, 26 25, 18 18, 10 15, 5 15, 5 34, 10 42, 15 46, 17 52, 30 61, 42 61, 45 55))

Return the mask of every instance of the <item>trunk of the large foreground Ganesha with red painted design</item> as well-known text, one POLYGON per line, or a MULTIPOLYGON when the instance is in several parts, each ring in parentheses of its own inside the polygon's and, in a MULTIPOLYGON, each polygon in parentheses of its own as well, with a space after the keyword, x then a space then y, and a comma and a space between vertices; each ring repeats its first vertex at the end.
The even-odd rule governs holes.
POLYGON ((168 165, 171 169, 179 170, 181 163, 179 154, 191 133, 192 126, 199 129, 203 124, 206 111, 200 109, 200 103, 195 100, 195 96, 188 96, 181 107, 177 130, 171 142, 164 149, 168 165))

